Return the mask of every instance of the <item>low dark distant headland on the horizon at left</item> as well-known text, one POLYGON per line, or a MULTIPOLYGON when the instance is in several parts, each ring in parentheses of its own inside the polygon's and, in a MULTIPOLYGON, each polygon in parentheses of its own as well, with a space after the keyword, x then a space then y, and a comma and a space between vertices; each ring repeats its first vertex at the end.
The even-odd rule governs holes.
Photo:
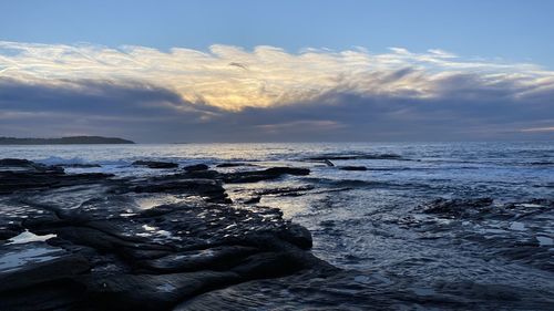
POLYGON ((85 144, 134 144, 132 141, 102 136, 70 136, 61 138, 0 137, 0 145, 85 145, 85 144))

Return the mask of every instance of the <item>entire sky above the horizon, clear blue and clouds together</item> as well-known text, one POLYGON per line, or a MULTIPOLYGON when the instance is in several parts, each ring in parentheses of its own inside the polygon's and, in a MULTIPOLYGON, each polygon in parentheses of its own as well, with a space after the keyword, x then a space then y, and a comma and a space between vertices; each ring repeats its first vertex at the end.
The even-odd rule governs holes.
POLYGON ((0 136, 554 138, 554 1, 2 1, 0 136))

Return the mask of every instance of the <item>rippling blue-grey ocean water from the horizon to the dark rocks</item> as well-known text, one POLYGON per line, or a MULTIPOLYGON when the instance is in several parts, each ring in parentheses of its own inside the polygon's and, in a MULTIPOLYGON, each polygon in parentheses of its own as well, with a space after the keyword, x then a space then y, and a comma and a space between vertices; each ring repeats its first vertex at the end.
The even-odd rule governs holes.
POLYGON ((423 297, 554 297, 553 142, 0 146, 4 157, 99 164, 66 170, 119 176, 172 172, 131 166, 136 159, 307 167, 309 176, 225 187, 239 208, 264 194, 259 205, 310 229, 316 256, 382 286, 423 297), (461 203, 480 198, 492 203, 461 203), (430 212, 438 199, 460 204, 430 212))

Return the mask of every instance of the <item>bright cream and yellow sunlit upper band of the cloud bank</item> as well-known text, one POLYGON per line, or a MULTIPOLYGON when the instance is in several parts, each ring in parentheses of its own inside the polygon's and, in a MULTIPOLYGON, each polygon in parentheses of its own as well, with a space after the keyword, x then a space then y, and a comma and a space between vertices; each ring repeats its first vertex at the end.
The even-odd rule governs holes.
POLYGON ((444 84, 466 75, 475 75, 482 85, 521 85, 514 96, 554 85, 553 72, 532 64, 463 61, 441 50, 288 53, 266 45, 253 51, 212 45, 208 52, 181 48, 163 52, 144 46, 0 42, 0 77, 65 87, 79 87, 73 82, 80 80, 141 83, 168 89, 189 103, 228 111, 308 102, 327 92, 429 99, 460 87, 444 84))

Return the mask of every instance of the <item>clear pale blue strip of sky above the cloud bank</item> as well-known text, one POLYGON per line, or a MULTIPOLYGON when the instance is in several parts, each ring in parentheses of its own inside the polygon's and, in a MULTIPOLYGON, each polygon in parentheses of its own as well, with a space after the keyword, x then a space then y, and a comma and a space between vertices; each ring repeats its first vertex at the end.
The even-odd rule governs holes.
POLYGON ((0 38, 158 49, 360 45, 534 62, 554 69, 554 1, 2 1, 0 38))

